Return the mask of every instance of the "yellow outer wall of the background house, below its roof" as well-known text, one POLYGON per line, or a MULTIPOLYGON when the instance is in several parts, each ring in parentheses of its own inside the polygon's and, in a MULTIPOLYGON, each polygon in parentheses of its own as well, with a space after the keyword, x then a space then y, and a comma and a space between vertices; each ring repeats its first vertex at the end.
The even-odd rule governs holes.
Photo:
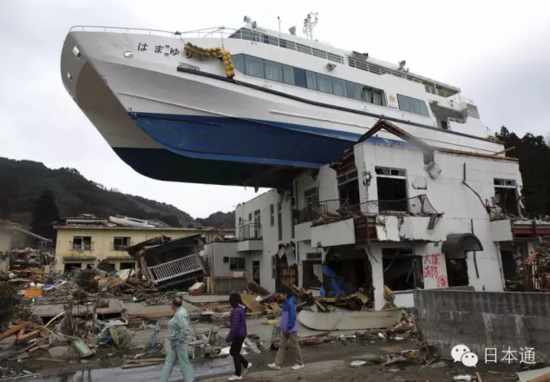
POLYGON ((88 264, 94 265, 103 259, 107 259, 115 265, 117 270, 120 270, 120 263, 131 261, 132 258, 125 251, 117 251, 113 248, 115 237, 130 237, 131 244, 137 244, 158 236, 168 236, 172 239, 177 239, 203 232, 204 230, 186 228, 170 230, 58 228, 55 249, 56 271, 62 272, 65 268, 65 263, 81 263, 82 267, 86 268, 88 264), (90 236, 92 238, 91 250, 74 250, 73 239, 75 236, 90 236))

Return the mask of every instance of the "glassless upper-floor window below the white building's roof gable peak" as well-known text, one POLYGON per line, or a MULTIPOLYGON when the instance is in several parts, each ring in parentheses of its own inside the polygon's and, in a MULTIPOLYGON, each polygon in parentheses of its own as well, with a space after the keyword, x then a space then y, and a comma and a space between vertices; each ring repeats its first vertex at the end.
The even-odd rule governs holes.
POLYGON ((408 211, 406 170, 376 167, 375 171, 378 212, 408 211))

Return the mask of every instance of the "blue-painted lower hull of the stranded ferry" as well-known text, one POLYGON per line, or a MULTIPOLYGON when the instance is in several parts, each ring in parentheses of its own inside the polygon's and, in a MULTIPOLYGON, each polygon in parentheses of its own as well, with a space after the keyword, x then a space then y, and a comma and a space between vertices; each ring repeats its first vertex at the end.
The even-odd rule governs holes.
MULTIPOLYGON (((159 180, 282 187, 289 175, 337 162, 359 134, 229 117, 131 113, 165 150, 115 148, 139 173, 159 180)), ((373 143, 404 142, 371 138, 373 143)))

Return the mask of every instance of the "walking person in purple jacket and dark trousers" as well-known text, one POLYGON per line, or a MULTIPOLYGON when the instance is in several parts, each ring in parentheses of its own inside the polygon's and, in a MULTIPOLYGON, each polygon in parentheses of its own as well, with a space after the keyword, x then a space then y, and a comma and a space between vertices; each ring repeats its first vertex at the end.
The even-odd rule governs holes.
POLYGON ((252 364, 241 355, 243 342, 246 338, 246 311, 241 296, 238 293, 233 293, 229 296, 229 303, 233 310, 231 311, 231 329, 226 341, 231 342, 229 354, 231 354, 233 362, 235 362, 235 375, 229 377, 229 380, 239 381, 243 379, 242 367, 244 367, 245 372, 252 367, 252 364))

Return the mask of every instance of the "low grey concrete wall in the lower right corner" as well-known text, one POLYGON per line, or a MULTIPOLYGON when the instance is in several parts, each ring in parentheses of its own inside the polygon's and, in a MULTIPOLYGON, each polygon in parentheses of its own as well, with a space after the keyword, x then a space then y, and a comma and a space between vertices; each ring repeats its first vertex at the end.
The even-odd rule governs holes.
POLYGON ((534 348, 537 361, 550 361, 550 294, 424 290, 414 292, 417 323, 423 338, 450 356, 464 344, 483 362, 485 349, 499 360, 510 347, 534 348))

